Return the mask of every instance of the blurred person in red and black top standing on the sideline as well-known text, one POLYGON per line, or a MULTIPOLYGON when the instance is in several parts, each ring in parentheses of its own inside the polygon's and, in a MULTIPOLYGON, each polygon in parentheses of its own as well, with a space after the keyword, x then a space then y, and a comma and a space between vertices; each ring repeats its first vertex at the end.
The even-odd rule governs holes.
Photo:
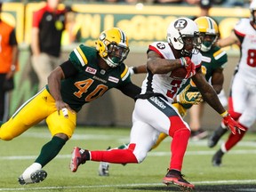
POLYGON ((47 84, 47 76, 61 63, 60 43, 66 10, 58 9, 59 3, 60 0, 47 0, 47 4, 33 15, 31 61, 39 79, 39 89, 47 84))

